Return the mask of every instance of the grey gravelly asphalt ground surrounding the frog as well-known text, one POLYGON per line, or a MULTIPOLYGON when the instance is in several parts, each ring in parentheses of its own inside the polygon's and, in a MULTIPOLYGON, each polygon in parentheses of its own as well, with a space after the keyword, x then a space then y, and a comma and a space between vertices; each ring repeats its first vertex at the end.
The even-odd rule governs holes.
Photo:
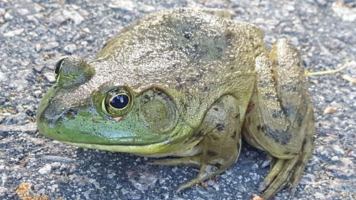
POLYGON ((10 1, 0 0, 0 199, 21 199, 15 190, 51 199, 249 199, 268 169, 266 154, 244 144, 239 161, 206 188, 174 194, 196 169, 152 167, 131 154, 69 147, 38 134, 36 108, 53 85, 62 56, 93 58, 105 41, 140 16, 175 7, 230 9, 234 19, 261 26, 268 47, 289 38, 311 71, 349 67, 310 76, 317 135, 295 197, 355 199, 356 8, 334 1, 10 1), (352 80, 354 78, 353 83, 352 80))

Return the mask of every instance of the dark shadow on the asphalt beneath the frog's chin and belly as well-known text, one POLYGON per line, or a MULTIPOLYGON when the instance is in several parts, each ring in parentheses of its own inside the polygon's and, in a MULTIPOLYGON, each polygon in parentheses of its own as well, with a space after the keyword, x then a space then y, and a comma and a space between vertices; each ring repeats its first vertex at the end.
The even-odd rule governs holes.
MULTIPOLYGON (((225 188, 227 184, 231 188, 231 192, 235 191, 234 193, 236 193, 237 186, 244 184, 245 187, 248 186, 248 189, 246 189, 246 192, 241 192, 242 194, 256 193, 258 184, 254 185, 253 182, 260 183, 268 172, 268 167, 263 169, 260 167, 266 155, 266 152, 243 142, 239 159, 225 173, 216 176, 218 180, 216 184, 221 188, 225 188), (231 185, 231 179, 234 179, 235 185, 231 185)), ((95 179, 100 187, 105 187, 107 191, 128 189, 129 191, 139 190, 145 193, 159 190, 160 193, 169 192, 173 194, 177 186, 192 179, 198 172, 198 169, 191 167, 152 166, 147 162, 157 158, 146 158, 121 152, 78 148, 77 157, 85 159, 82 159, 78 164, 78 170, 75 174, 79 173, 79 175, 95 179), (169 178, 166 179, 166 177, 169 178), (150 181, 147 181, 147 179, 150 179, 150 181)), ((211 195, 216 192, 219 193, 219 191, 214 191, 212 187, 208 190, 207 192, 211 195)), ((204 188, 197 186, 193 189, 185 189, 180 194, 194 194, 201 193, 201 191, 204 191, 204 188)))

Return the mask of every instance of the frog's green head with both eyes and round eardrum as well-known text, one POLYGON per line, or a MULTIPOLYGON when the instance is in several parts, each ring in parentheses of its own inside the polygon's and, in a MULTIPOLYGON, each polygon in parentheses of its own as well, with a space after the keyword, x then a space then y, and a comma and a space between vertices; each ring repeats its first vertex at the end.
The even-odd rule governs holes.
POLYGON ((93 66, 82 58, 58 61, 57 83, 38 107, 43 135, 80 147, 159 155, 192 133, 162 88, 136 93, 97 75, 93 66))

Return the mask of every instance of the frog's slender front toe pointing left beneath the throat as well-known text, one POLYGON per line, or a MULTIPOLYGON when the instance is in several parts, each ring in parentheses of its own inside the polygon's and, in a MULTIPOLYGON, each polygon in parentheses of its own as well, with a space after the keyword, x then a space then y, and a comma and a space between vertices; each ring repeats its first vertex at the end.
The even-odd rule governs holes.
POLYGON ((200 167, 200 157, 192 156, 192 157, 179 157, 179 158, 172 158, 172 159, 157 159, 155 161, 147 162, 147 164, 152 165, 163 165, 163 166, 187 166, 187 167, 200 167))

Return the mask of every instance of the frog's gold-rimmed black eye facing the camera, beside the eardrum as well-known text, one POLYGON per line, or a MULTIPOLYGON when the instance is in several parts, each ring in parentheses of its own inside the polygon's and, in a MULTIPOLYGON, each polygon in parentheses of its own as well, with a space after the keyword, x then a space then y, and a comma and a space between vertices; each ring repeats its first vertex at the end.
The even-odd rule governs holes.
POLYGON ((103 112, 112 116, 119 117, 125 115, 130 109, 132 95, 125 88, 115 88, 108 92, 102 102, 103 112))

